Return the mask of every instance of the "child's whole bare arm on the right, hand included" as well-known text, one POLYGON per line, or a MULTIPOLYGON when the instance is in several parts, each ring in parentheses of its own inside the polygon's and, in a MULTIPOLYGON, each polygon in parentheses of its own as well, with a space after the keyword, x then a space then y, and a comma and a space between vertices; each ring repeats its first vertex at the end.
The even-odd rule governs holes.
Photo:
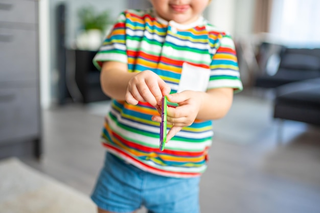
MULTIPOLYGON (((190 126, 195 119, 221 119, 232 105, 233 89, 216 88, 207 92, 186 90, 167 97, 170 102, 179 104, 176 108, 167 109, 167 124, 173 125, 167 135, 169 141, 182 127, 190 126)), ((161 122, 159 116, 153 116, 152 120, 161 122)))

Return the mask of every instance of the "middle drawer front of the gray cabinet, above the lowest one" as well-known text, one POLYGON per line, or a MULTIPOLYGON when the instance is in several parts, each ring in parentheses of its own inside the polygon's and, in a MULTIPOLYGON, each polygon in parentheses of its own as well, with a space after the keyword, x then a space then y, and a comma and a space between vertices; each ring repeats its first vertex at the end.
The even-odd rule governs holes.
POLYGON ((37 79, 36 31, 0 28, 0 83, 37 79))

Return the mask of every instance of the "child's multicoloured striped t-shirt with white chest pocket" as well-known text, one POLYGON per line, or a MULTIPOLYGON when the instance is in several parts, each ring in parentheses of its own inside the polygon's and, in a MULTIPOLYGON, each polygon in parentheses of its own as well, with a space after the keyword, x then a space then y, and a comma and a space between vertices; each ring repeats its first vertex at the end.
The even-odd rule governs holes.
MULTIPOLYGON (((170 85, 171 92, 242 89, 233 40, 203 17, 180 25, 156 16, 152 9, 127 10, 120 14, 94 58, 98 68, 104 61, 126 63, 128 72, 151 70, 170 85)), ((148 103, 130 105, 112 100, 102 144, 154 174, 194 177, 203 173, 212 143, 212 122, 196 120, 160 151, 159 123, 151 120, 152 115, 158 112, 148 103)))

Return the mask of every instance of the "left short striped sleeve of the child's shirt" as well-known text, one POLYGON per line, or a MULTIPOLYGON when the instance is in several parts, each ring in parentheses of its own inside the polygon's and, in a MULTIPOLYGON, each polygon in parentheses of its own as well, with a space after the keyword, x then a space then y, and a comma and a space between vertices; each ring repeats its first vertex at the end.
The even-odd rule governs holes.
POLYGON ((105 61, 127 63, 125 19, 124 12, 118 16, 115 25, 94 57, 93 63, 99 70, 105 61))

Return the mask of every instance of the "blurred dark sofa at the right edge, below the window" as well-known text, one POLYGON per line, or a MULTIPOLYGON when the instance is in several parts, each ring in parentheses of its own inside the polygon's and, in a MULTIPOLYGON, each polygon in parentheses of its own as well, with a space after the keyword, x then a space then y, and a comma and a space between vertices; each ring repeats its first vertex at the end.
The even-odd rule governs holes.
POLYGON ((262 72, 255 86, 275 91, 275 119, 320 126, 320 49, 277 50, 272 53, 281 59, 276 74, 262 72))

